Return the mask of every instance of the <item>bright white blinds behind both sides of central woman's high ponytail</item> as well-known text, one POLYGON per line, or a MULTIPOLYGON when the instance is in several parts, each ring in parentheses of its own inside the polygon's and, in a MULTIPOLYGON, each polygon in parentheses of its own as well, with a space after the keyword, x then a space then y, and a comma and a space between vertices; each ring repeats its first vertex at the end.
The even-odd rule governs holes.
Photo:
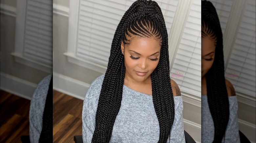
MULTIPOLYGON (((107 67, 111 43, 125 11, 135 0, 80 0, 76 56, 107 67)), ((178 0, 156 0, 169 34, 178 0)))

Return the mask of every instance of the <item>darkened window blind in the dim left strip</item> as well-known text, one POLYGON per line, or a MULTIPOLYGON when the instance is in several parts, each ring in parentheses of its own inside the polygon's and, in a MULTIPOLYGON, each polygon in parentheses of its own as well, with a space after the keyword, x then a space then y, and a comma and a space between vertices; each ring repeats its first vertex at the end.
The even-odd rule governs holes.
POLYGON ((23 56, 53 66, 53 1, 27 0, 23 56))

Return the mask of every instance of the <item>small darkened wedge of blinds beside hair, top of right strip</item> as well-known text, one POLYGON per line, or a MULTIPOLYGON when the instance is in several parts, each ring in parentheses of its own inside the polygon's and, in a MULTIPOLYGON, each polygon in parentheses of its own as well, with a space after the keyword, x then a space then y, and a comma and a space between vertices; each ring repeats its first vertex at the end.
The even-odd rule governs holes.
POLYGON ((213 6, 216 8, 216 11, 220 20, 220 24, 221 24, 222 33, 224 35, 230 10, 233 5, 233 0, 210 0, 210 1, 212 2, 213 6))

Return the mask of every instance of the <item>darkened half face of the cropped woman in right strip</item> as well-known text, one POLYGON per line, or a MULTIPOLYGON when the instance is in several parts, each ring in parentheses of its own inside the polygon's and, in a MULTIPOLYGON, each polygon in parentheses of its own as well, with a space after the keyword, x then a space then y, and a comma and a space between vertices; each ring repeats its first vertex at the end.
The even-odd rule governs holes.
POLYGON ((209 71, 209 69, 212 67, 214 56, 215 56, 215 47, 216 47, 216 40, 204 37, 202 38, 202 73, 201 77, 203 78, 205 74, 209 71))

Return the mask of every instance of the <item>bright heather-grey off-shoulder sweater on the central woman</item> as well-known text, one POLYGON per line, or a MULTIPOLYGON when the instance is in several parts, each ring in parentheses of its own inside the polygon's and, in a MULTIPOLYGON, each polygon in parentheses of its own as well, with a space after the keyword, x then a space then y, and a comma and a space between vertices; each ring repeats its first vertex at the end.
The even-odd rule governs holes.
MULTIPOLYGON (((82 111, 82 136, 91 143, 95 130, 95 116, 104 74, 94 80, 87 91, 82 111)), ((181 96, 174 97, 175 118, 167 142, 185 143, 183 129, 183 103, 181 96)), ((152 95, 135 91, 123 85, 121 107, 115 120, 111 143, 157 143, 159 122, 152 95)))

